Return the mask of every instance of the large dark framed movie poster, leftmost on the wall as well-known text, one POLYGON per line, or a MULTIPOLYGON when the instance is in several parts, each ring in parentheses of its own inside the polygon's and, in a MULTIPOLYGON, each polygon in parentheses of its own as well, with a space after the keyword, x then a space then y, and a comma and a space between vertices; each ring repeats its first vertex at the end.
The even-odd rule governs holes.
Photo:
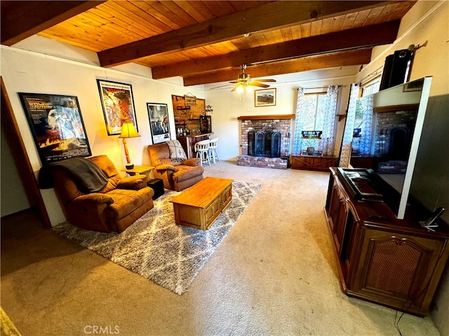
POLYGON ((19 92, 43 165, 91 156, 78 98, 19 92))

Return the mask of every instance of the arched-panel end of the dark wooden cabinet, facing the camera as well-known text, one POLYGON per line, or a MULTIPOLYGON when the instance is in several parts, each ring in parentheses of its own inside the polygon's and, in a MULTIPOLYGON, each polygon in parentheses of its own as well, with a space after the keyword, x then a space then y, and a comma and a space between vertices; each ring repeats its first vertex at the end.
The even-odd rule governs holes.
POLYGON ((427 313, 444 241, 365 229, 354 290, 368 300, 427 313))

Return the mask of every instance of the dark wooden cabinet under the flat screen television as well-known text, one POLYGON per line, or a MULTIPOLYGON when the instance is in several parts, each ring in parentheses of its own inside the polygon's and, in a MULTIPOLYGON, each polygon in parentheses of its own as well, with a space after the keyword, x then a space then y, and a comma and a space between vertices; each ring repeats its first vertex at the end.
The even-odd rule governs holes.
POLYGON ((396 220, 382 202, 354 200, 336 169, 330 171, 325 212, 342 291, 425 316, 448 259, 449 233, 396 220))

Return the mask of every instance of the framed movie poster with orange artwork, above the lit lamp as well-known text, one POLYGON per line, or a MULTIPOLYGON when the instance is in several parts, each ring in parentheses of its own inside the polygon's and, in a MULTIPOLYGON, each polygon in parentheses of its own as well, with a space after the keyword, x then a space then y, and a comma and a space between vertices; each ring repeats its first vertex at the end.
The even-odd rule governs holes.
POLYGON ((123 123, 132 123, 139 132, 135 118, 133 88, 129 84, 97 80, 107 135, 121 134, 123 123))

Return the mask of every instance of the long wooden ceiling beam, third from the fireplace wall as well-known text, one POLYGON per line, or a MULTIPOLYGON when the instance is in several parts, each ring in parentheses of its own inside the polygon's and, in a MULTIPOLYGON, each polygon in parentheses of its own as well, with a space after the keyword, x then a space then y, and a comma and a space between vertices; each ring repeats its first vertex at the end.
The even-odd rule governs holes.
POLYGON ((210 45, 243 34, 330 18, 397 1, 275 1, 98 52, 101 66, 210 45))

